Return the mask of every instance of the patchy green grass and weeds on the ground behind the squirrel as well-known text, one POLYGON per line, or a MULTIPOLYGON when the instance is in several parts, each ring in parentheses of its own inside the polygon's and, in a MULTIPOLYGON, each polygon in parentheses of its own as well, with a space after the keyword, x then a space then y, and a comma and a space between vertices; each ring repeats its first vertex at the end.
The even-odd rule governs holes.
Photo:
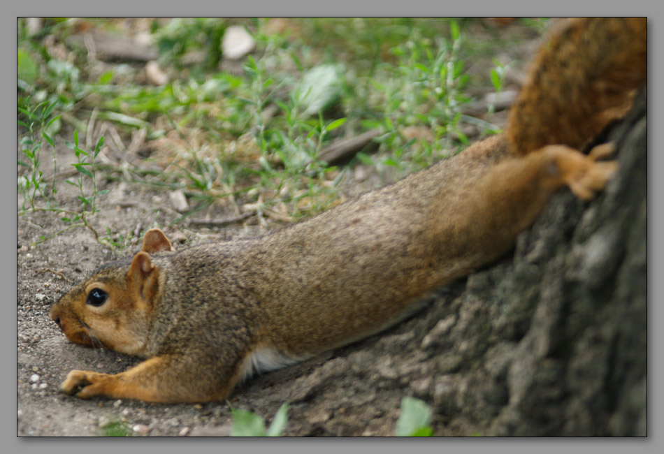
MULTIPOLYGON (((259 219, 311 216, 344 199, 340 187, 353 184, 349 170, 358 163, 379 180, 393 180, 459 152, 469 142, 465 125, 480 124, 484 134, 498 130, 463 113, 469 89, 493 84, 500 91, 504 83, 497 60, 479 81, 468 73, 476 59, 505 45, 490 32, 477 39, 477 20, 313 18, 287 20, 281 28, 275 20, 244 20, 257 50, 240 71, 219 66, 219 42, 231 20, 154 20, 149 31, 171 76, 162 87, 140 83, 137 65, 106 64, 100 71, 85 47, 69 41, 85 22, 107 31, 120 27, 119 20, 57 18, 27 36, 18 22, 17 121, 26 159, 19 162, 17 187, 32 209, 62 204, 57 179, 50 185, 40 179, 41 149, 52 152, 56 134, 68 142, 75 139, 71 131, 87 134, 94 118, 111 122, 127 140, 145 130, 158 149, 150 159, 164 171, 149 174, 138 166, 104 173, 185 191, 192 212, 176 221, 214 203, 238 212, 251 207, 259 219), (189 52, 203 58, 184 64, 189 52), (409 127, 424 137, 405 136, 409 127), (380 131, 377 152, 343 166, 319 159, 334 140, 370 129, 380 131)), ((54 170, 62 170, 52 155, 54 170)), ((89 168, 92 159, 78 164, 78 181, 87 177, 85 187, 92 184, 88 193, 80 186, 80 212, 94 214, 101 194, 94 173, 84 170, 95 167, 89 168)))

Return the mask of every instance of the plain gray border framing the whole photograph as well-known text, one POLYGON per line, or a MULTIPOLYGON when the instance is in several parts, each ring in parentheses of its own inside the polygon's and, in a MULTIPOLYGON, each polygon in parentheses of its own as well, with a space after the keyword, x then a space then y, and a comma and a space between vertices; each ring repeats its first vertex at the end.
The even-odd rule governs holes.
MULTIPOLYGON (((44 0, 33 0, 29 4, 5 3, 3 10, 6 14, 1 20, 2 54, 5 58, 5 70, 2 71, 1 100, 3 108, 1 109, 3 121, 0 125, 3 130, 3 137, 6 139, 8 149, 15 149, 14 133, 16 131, 15 123, 15 44, 16 44, 16 22, 17 16, 73 16, 73 15, 132 15, 132 16, 151 16, 151 15, 227 15, 227 16, 273 16, 273 15, 316 15, 316 16, 363 16, 376 13, 374 1, 350 1, 335 0, 329 3, 314 3, 312 1, 301 0, 281 0, 278 2, 244 1, 244 2, 205 2, 199 0, 189 0, 186 4, 175 3, 173 1, 160 1, 159 7, 154 8, 156 3, 137 3, 136 1, 114 0, 112 2, 95 3, 87 1, 59 1, 46 2, 44 0), (229 4, 230 3, 230 4, 229 4), (183 7, 184 6, 184 7, 183 7), (195 14, 193 14, 195 13, 195 14)), ((658 14, 661 5, 653 1, 633 0, 628 3, 582 3, 579 1, 559 0, 555 3, 536 4, 533 1, 463 1, 461 3, 452 3, 431 0, 407 0, 406 2, 396 2, 394 0, 381 1, 380 13, 388 16, 411 15, 411 16, 437 16, 452 15, 463 16, 480 13, 485 16, 510 16, 510 15, 531 15, 531 16, 551 16, 551 15, 638 15, 648 16, 649 21, 649 80, 660 80, 662 74, 661 66, 661 34, 658 30, 658 14), (601 4, 601 9, 596 5, 601 4)), ((651 124, 658 124, 659 107, 661 106, 661 90, 654 83, 649 83, 649 112, 651 119, 655 119, 651 124)), ((650 251, 654 252, 649 258, 648 274, 649 277, 663 276, 662 266, 662 244, 663 241, 656 233, 663 232, 663 204, 658 196, 663 191, 663 180, 660 174, 664 170, 664 150, 661 150, 661 128, 655 127, 649 129, 649 196, 655 198, 655 202, 649 202, 649 237, 648 245, 650 251)), ((13 301, 16 296, 16 261, 13 256, 13 237, 17 230, 17 221, 10 214, 15 210, 13 203, 13 194, 15 194, 15 174, 13 173, 13 163, 15 154, 13 151, 7 151, 3 158, 1 166, 2 178, 0 185, 3 187, 1 203, 5 206, 6 219, 8 222, 1 224, 2 237, 5 241, 1 242, 1 271, 0 281, 3 284, 0 288, 7 288, 10 298, 2 305, 2 340, 0 343, 3 360, 7 360, 10 365, 4 367, 4 373, 1 375, 1 383, 6 385, 6 392, 2 393, 2 409, 0 427, 6 439, 6 447, 10 452, 38 453, 48 450, 49 453, 72 453, 72 452, 92 452, 116 453, 119 446, 129 443, 136 447, 143 442, 150 443, 150 448, 159 448, 166 453, 180 453, 185 446, 191 446, 192 443, 200 448, 214 447, 217 449, 225 448, 268 448, 277 453, 310 453, 315 450, 317 453, 336 453, 339 449, 363 448, 370 444, 371 449, 379 448, 381 451, 403 453, 404 449, 412 449, 417 446, 418 452, 438 452, 442 449, 452 448, 455 453, 475 452, 482 448, 491 449, 492 453, 498 451, 505 453, 559 453, 561 450, 574 450, 575 448, 598 451, 604 453, 625 453, 629 454, 642 452, 661 452, 663 448, 662 435, 659 430, 661 426, 662 393, 658 391, 656 383, 661 381, 662 367, 664 357, 661 350, 661 330, 658 326, 663 322, 663 311, 659 304, 664 296, 664 279, 649 279, 649 407, 648 407, 648 433, 647 439, 123 439, 115 441, 114 439, 19 439, 16 437, 16 394, 15 394, 15 373, 11 364, 12 358, 16 357, 16 323, 15 306, 13 301), (13 219, 11 221, 10 219, 13 219), (5 287, 6 285, 6 287, 5 287), (657 352, 657 353, 655 353, 657 352), (656 446, 660 446, 659 449, 656 446)))

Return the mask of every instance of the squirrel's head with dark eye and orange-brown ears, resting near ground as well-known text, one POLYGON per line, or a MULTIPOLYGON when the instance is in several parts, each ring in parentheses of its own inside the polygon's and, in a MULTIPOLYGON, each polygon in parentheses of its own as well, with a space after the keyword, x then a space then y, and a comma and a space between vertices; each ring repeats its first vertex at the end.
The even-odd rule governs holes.
POLYGON ((148 230, 131 261, 96 270, 53 305, 50 317, 71 342, 140 355, 164 281, 150 254, 172 250, 161 230, 148 230))

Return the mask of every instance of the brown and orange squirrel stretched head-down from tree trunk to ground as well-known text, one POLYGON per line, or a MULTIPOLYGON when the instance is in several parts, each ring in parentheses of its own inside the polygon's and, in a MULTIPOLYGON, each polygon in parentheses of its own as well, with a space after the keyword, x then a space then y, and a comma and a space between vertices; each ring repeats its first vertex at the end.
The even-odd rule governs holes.
POLYGON ((71 342, 145 358, 73 370, 62 391, 147 402, 223 400, 240 379, 394 325, 440 286, 496 260, 551 196, 587 200, 616 171, 611 145, 577 151, 646 81, 645 18, 554 29, 507 131, 311 219, 173 251, 159 229, 53 305, 71 342))

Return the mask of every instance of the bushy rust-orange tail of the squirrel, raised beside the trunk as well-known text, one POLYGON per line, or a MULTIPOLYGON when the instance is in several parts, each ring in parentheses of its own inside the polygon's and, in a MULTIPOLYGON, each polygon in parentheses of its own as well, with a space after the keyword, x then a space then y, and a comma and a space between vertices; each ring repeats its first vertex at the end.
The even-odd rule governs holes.
POLYGON ((647 78, 645 17, 584 17, 556 27, 512 107, 514 154, 581 149, 631 105, 647 78))

